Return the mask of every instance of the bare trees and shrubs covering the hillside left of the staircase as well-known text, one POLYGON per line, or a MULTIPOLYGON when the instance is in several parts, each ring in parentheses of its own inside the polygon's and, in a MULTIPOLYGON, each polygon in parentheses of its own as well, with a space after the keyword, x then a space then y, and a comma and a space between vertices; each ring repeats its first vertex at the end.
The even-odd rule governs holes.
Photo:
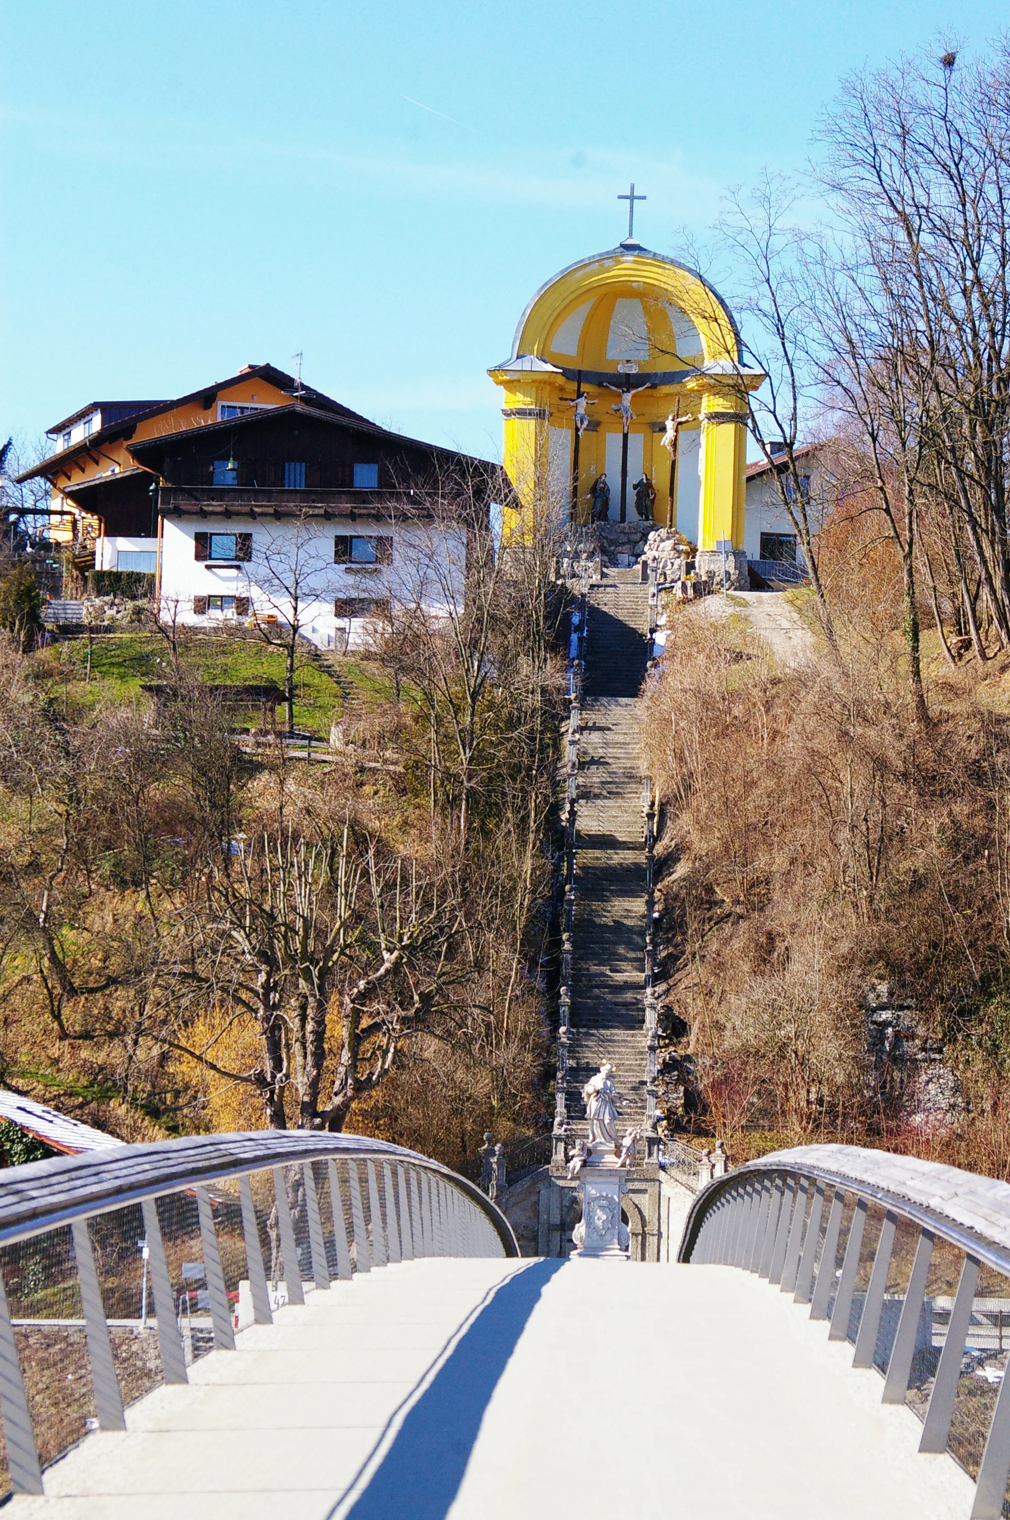
POLYGON ((229 734, 211 684, 284 660, 255 638, 3 641, 3 1085, 125 1138, 349 1125, 457 1164, 541 1126, 562 608, 547 552, 481 535, 459 616, 299 652, 327 763, 229 734))

